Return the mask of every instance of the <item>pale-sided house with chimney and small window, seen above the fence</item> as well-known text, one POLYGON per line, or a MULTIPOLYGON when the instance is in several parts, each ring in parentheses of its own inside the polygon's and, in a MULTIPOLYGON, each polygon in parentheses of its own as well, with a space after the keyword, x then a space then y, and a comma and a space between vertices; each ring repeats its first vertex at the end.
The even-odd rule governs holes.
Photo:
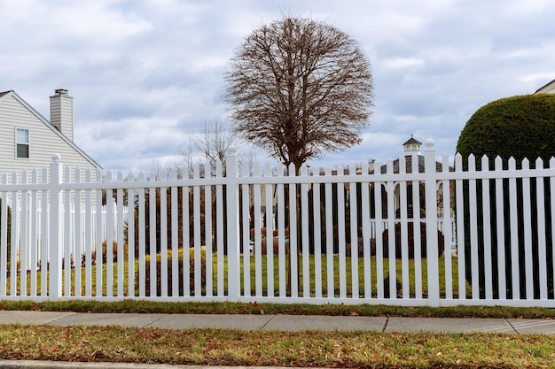
POLYGON ((73 97, 57 89, 50 100, 48 121, 14 91, 0 92, 0 174, 41 169, 58 153, 64 165, 79 167, 83 178, 90 168, 95 181, 102 166, 74 143, 73 97))

